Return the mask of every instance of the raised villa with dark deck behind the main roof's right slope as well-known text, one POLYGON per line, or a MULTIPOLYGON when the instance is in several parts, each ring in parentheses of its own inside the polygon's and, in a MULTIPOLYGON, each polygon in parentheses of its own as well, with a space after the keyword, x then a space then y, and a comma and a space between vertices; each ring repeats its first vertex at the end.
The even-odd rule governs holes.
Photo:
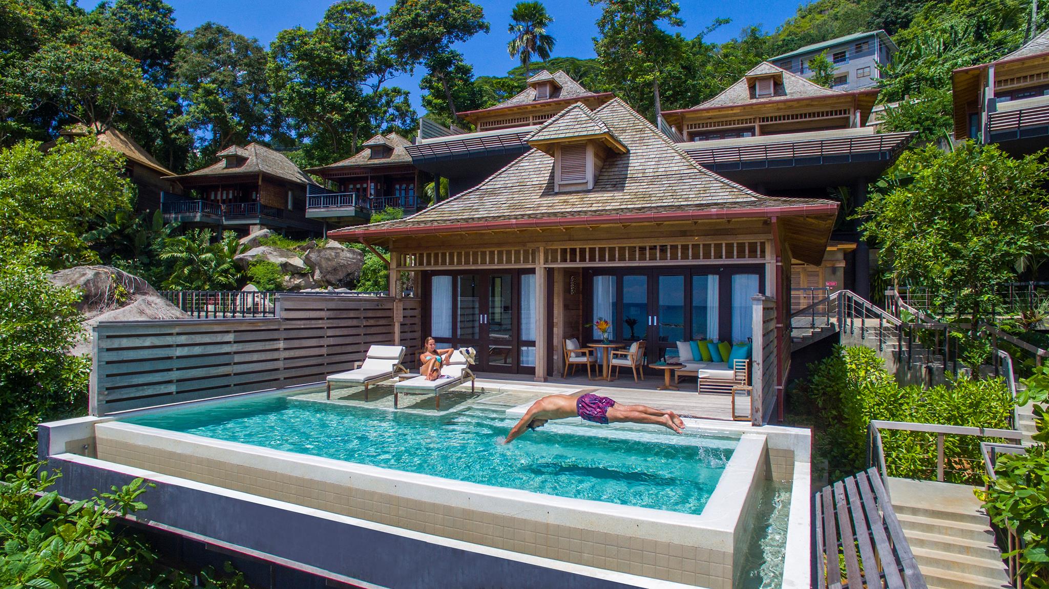
MULTIPOLYGON (((877 88, 823 88, 764 62, 716 96, 662 116, 667 135, 711 172, 767 195, 833 191, 856 208, 915 135, 868 126, 877 96, 877 88)), ((859 239, 857 221, 842 219, 821 264, 792 261, 792 284, 869 297, 875 255, 859 239)))

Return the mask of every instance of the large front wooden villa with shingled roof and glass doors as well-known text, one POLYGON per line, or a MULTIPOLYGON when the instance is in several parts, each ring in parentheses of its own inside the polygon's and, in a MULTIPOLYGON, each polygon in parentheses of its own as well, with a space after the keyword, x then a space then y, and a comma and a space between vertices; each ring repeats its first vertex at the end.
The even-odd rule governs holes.
MULTIPOLYGON (((477 369, 560 375, 563 342, 753 340, 755 395, 782 393, 789 260, 818 265, 837 203, 768 197, 698 166, 620 100, 575 104, 479 186, 411 217, 330 232, 416 272, 423 331, 477 369)), ((399 281, 391 280, 397 285, 399 281)), ((395 287, 391 294, 400 296, 395 287)))

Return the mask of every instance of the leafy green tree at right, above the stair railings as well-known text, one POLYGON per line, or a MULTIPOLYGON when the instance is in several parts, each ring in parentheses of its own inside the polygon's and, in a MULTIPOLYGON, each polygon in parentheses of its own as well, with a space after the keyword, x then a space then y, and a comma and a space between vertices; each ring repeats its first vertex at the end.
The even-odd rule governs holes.
POLYGON ((879 257, 897 284, 924 286, 934 304, 977 325, 998 286, 1015 280, 1018 260, 1049 247, 1042 154, 928 146, 904 153, 892 173, 859 212, 864 234, 882 244, 879 257))

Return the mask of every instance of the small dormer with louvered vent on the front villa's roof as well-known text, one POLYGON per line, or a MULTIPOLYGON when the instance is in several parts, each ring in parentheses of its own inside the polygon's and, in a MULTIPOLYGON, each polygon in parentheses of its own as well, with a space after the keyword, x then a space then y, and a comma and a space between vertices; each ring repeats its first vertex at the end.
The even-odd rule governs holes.
POLYGON ((619 138, 581 103, 561 111, 527 140, 553 156, 554 192, 593 189, 605 159, 626 153, 619 138))

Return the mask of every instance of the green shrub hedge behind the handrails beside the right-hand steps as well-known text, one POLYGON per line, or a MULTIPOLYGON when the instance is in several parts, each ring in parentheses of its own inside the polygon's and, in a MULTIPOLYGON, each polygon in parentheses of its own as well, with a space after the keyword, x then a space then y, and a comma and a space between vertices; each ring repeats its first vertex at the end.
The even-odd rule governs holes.
MULTIPOLYGON (((835 347, 810 367, 804 385, 812 405, 817 443, 828 460, 831 480, 866 466, 868 426, 872 420, 1008 428, 1012 399, 1001 378, 962 378, 950 386, 900 387, 877 353, 864 347, 835 347)), ((929 479, 936 476, 936 435, 882 431, 891 476, 929 479)), ((945 479, 980 479, 980 438, 946 436, 945 479)))

